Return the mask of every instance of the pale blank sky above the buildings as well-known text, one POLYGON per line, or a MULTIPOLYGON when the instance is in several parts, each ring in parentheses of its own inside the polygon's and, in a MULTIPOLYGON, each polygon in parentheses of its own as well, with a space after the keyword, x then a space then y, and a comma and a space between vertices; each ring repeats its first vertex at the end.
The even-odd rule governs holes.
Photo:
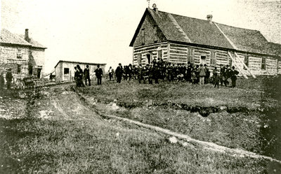
MULTIPOLYGON (((147 0, 0 0, 1 28, 30 36, 45 51, 45 73, 59 60, 130 64, 129 43, 147 0)), ((256 29, 281 44, 281 0, 151 0, 159 10, 256 29)))

